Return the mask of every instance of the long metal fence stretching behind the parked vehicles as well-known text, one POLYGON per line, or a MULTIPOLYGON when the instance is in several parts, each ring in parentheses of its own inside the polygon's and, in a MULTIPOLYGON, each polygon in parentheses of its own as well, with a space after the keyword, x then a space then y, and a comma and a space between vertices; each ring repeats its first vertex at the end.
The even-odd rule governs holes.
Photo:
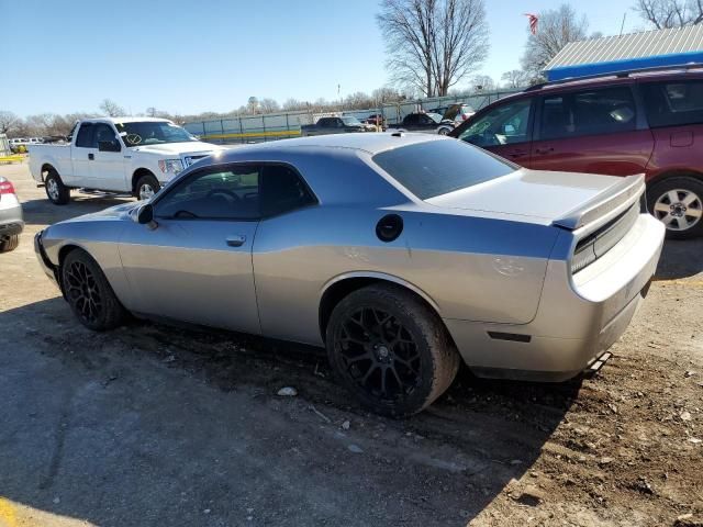
MULTIPOLYGON (((380 113, 389 126, 399 125, 405 115, 417 111, 429 111, 437 108, 446 108, 454 103, 466 103, 480 110, 502 97, 515 93, 518 90, 500 90, 491 92, 476 92, 462 97, 435 97, 402 101, 393 104, 382 104, 379 108, 366 110, 344 109, 336 114, 353 115, 357 119, 366 119, 369 115, 380 113)), ((241 115, 209 121, 194 121, 183 126, 191 134, 201 139, 217 144, 261 143, 265 141, 299 137, 300 127, 303 124, 314 124, 320 117, 335 113, 320 113, 312 111, 297 111, 284 113, 269 113, 260 115, 241 115)))

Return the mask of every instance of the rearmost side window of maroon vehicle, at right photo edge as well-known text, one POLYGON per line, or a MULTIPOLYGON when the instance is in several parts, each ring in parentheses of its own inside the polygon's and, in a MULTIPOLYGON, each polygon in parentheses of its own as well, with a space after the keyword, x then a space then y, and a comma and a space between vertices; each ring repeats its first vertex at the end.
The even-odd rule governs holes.
POLYGON ((703 81, 650 82, 643 90, 650 126, 703 123, 703 81))

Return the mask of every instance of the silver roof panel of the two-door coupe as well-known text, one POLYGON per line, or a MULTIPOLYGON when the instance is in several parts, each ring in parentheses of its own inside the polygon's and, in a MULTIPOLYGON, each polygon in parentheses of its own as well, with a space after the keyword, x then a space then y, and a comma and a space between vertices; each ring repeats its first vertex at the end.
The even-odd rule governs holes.
POLYGON ((271 155, 290 154, 297 148, 317 148, 317 149, 347 149, 359 150, 370 155, 381 152, 391 150, 401 146, 415 145, 419 143, 428 143, 432 141, 454 141, 442 135, 420 134, 420 133, 354 133, 354 134, 330 134, 317 135, 312 137, 297 137, 292 139, 272 141, 270 143, 258 143, 255 145, 246 145, 231 150, 226 150, 220 155, 220 158, 227 160, 230 157, 241 157, 245 154, 265 153, 271 155))

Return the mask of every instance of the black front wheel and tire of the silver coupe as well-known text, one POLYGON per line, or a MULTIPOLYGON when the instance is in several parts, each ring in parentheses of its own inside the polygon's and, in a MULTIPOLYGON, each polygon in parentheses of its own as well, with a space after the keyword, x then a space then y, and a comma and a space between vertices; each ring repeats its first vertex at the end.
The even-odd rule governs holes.
POLYGON ((103 332, 124 322, 126 311, 88 253, 71 250, 62 265, 60 274, 68 305, 83 326, 103 332))

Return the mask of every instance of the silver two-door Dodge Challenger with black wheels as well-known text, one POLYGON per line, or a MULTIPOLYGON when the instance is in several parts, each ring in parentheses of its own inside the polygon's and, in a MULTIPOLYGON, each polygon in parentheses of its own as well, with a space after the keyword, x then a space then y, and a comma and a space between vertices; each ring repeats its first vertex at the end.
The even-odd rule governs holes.
POLYGON ((132 313, 325 346, 362 404, 406 416, 460 360, 560 381, 601 357, 659 260, 644 192, 440 136, 319 136, 219 153, 35 249, 91 329, 132 313))

